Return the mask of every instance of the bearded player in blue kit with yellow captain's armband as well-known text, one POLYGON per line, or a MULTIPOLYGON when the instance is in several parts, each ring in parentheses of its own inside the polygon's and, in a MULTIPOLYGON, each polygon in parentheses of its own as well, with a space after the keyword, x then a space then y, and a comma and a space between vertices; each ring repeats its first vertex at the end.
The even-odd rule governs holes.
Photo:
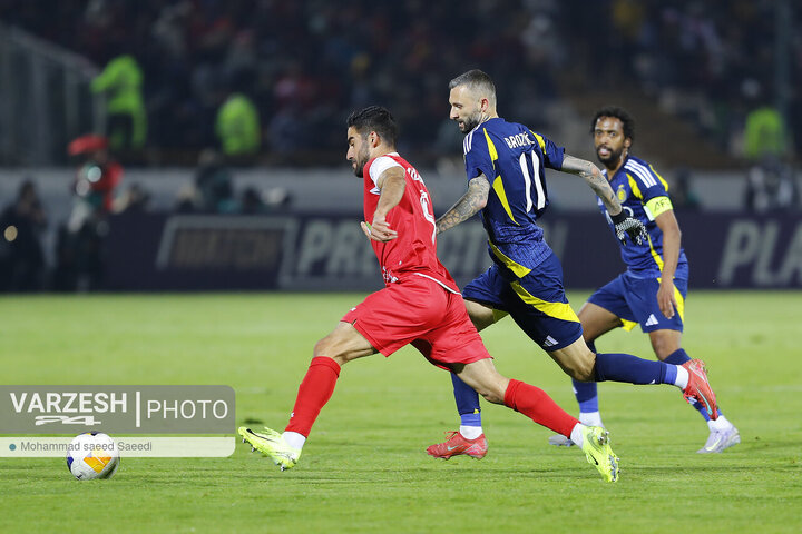
MULTIPOLYGON (((624 210, 646 226, 648 240, 644 245, 622 244, 626 273, 594 293, 579 310, 585 342, 594 348, 596 339, 607 332, 618 327, 630 330, 639 324, 659 360, 682 365, 691 359, 681 346, 688 264, 668 185, 649 164, 629 154, 635 125, 625 110, 600 109, 590 132, 598 159, 605 166, 605 177, 624 210)), ((613 227, 607 207, 600 199, 598 205, 613 227)), ((579 419, 586 425, 603 426, 596 384, 574 380, 574 392, 579 402, 579 419)), ((698 403, 689 403, 710 427, 707 442, 698 453, 721 453, 741 443, 737 428, 721 413, 712 421, 698 403)), ((549 442, 570 445, 563 437, 554 436, 549 442)))

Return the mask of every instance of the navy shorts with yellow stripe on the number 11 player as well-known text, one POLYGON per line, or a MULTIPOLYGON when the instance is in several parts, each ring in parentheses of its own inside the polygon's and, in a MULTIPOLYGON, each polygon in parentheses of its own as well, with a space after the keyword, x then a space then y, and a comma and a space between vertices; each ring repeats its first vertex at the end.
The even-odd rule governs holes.
POLYGON ((581 324, 565 296, 563 265, 554 254, 524 278, 507 279, 493 265, 464 286, 462 297, 508 313, 546 352, 565 348, 581 337, 581 324))

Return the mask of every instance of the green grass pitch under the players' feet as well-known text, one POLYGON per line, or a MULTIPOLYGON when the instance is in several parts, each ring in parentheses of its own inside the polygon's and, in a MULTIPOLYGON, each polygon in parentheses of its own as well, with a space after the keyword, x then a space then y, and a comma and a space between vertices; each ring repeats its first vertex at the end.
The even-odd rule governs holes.
MULTIPOLYGON (((578 306, 587 295, 570 295, 578 306)), ((227 384, 237 419, 283 428, 315 340, 363 295, 0 299, 4 384, 227 384)), ((450 380, 413 349, 343 369, 299 465, 237 442, 228 458, 124 458, 77 482, 57 458, 0 458, 0 532, 799 532, 802 293, 692 293, 684 347, 742 444, 697 455, 707 427, 669 386, 600 386, 620 456, 605 484, 549 431, 483 405, 490 453, 434 461, 454 429, 450 380)), ((506 376, 571 413, 570 383, 510 319, 483 333, 506 376)), ((598 343, 652 358, 637 329, 598 343)))

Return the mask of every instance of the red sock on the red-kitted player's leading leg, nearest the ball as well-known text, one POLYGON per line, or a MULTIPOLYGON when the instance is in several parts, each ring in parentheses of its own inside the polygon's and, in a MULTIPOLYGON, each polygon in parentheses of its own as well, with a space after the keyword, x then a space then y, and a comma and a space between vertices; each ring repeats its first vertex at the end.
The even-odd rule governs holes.
POLYGON ((295 406, 284 432, 297 432, 309 437, 317 414, 334 393, 339 376, 340 365, 332 358, 327 356, 312 358, 306 376, 299 386, 295 406))

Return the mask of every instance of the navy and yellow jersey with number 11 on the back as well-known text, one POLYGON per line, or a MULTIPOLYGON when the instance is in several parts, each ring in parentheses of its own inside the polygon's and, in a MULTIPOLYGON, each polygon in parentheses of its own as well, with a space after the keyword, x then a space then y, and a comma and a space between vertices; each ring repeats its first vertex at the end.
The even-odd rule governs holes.
POLYGON ((548 207, 544 168, 559 170, 564 149, 526 126, 493 118, 464 138, 468 180, 483 174, 491 191, 482 209, 490 256, 525 276, 549 254, 537 219, 548 207))

